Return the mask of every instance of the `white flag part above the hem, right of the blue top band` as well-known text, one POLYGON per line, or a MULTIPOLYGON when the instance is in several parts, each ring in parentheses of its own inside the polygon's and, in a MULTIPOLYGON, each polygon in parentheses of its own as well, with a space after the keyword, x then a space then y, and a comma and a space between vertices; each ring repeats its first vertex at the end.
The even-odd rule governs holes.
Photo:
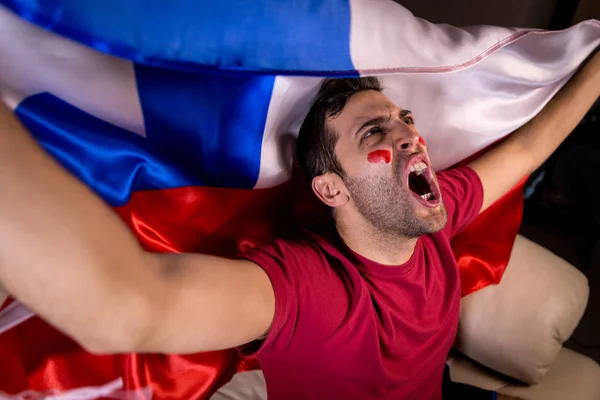
POLYGON ((391 0, 378 1, 376 6, 350 0, 350 6, 350 54, 361 75, 458 66, 525 31, 433 24, 391 0))

